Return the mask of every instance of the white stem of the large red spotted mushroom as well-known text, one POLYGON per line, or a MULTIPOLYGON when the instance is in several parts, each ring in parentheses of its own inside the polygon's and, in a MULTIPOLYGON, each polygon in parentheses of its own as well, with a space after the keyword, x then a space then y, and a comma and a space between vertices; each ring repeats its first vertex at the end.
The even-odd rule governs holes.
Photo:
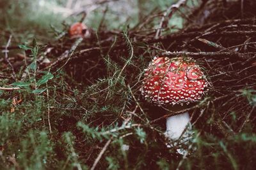
POLYGON ((188 123, 188 112, 166 118, 166 137, 172 140, 179 139, 188 123))

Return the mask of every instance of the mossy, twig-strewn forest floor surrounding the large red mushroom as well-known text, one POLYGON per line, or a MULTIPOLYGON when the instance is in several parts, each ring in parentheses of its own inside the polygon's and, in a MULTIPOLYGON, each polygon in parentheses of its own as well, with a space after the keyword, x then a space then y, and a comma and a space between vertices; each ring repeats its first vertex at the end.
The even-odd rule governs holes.
POLYGON ((88 21, 83 13, 38 38, 1 22, 0 169, 255 169, 256 2, 196 2, 122 27, 108 27, 108 6, 80 38, 68 29, 88 21), (204 99, 173 113, 145 101, 144 69, 156 56, 195 60, 204 99), (167 141, 166 117, 184 111, 193 136, 167 141))

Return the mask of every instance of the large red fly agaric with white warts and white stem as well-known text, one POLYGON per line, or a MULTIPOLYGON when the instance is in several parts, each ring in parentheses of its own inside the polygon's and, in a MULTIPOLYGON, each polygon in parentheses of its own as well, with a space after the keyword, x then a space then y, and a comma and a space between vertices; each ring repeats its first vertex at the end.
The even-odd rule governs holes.
MULTIPOLYGON (((189 103, 200 101, 207 87, 202 69, 190 58, 155 57, 144 76, 140 89, 143 97, 169 111, 184 110, 189 103)), ((166 137, 179 139, 188 124, 188 112, 166 118, 166 137)))

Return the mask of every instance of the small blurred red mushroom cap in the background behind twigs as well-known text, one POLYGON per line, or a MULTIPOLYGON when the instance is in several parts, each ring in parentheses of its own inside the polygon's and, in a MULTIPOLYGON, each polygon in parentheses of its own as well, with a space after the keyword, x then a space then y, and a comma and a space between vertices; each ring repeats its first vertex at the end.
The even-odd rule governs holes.
POLYGON ((90 31, 86 25, 81 22, 76 22, 69 29, 70 38, 89 38, 90 31))

